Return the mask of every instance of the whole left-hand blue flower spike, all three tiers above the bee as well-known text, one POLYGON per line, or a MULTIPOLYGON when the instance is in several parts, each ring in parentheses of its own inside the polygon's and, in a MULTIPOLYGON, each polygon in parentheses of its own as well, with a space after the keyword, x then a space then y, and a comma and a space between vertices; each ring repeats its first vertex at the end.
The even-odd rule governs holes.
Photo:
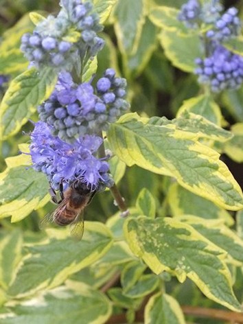
POLYGON ((33 34, 22 37, 31 65, 51 66, 58 73, 53 93, 37 108, 40 122, 30 135, 30 155, 34 169, 45 173, 54 189, 78 180, 100 191, 113 185, 107 157, 96 157, 100 136, 129 107, 126 80, 106 69, 95 86, 94 76, 82 82, 86 64, 104 45, 97 36, 102 25, 89 0, 61 0, 60 5, 56 17, 40 17, 33 34))

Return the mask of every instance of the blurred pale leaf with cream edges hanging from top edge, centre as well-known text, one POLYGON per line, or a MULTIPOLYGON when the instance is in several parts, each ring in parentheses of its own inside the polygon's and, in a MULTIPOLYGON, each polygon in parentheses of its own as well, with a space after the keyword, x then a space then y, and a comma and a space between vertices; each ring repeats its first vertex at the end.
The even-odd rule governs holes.
POLYGON ((143 0, 118 0, 115 7, 115 32, 119 49, 124 56, 136 51, 143 23, 145 22, 143 0))

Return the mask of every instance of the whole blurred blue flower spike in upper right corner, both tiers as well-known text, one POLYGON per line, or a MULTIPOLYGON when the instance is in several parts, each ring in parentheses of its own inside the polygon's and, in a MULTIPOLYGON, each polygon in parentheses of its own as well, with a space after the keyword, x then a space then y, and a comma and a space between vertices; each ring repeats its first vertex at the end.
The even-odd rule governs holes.
POLYGON ((192 27, 188 24, 190 17, 197 19, 197 27, 203 25, 207 56, 196 59, 198 67, 195 73, 198 82, 209 85, 213 92, 237 89, 243 82, 242 56, 223 47, 223 41, 240 35, 238 10, 232 7, 222 13, 222 9, 218 0, 206 1, 202 5, 197 0, 189 0, 181 7, 178 16, 178 19, 187 22, 188 27, 192 27), (209 28, 205 28, 205 24, 209 24, 209 28))

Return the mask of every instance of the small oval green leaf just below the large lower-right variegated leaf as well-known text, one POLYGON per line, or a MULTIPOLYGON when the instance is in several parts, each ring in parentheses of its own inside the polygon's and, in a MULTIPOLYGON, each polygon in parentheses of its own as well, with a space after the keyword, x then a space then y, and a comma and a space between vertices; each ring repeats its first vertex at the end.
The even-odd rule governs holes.
POLYGON ((142 275, 130 288, 124 290, 124 295, 130 298, 145 297, 159 286, 159 278, 154 274, 142 275))

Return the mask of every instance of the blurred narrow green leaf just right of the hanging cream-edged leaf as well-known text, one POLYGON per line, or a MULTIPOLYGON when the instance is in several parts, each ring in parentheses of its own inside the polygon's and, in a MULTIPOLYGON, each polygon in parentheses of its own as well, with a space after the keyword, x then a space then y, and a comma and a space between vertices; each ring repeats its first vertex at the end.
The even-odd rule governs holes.
POLYGON ((143 25, 137 49, 128 57, 128 72, 134 71, 136 76, 139 75, 147 67, 148 61, 156 48, 157 29, 147 18, 143 25))

